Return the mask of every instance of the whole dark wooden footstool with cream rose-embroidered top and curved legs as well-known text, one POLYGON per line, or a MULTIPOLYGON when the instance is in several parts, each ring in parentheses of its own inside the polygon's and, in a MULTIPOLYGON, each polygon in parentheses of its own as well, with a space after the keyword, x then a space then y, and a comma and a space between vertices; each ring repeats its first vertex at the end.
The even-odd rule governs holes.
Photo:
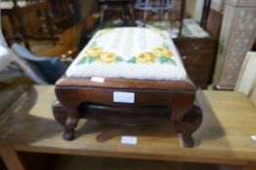
POLYGON ((64 139, 73 139, 79 119, 141 124, 169 121, 192 147, 202 113, 168 34, 147 28, 96 33, 56 84, 55 118, 64 139))

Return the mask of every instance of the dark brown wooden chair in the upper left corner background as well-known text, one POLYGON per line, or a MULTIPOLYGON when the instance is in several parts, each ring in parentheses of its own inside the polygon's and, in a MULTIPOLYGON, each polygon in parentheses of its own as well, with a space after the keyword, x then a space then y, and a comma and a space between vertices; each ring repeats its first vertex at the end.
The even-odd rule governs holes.
POLYGON ((30 49, 29 40, 50 40, 56 45, 54 26, 51 22, 48 3, 38 2, 26 7, 2 10, 9 24, 3 24, 5 38, 9 45, 13 41, 23 42, 30 49))

